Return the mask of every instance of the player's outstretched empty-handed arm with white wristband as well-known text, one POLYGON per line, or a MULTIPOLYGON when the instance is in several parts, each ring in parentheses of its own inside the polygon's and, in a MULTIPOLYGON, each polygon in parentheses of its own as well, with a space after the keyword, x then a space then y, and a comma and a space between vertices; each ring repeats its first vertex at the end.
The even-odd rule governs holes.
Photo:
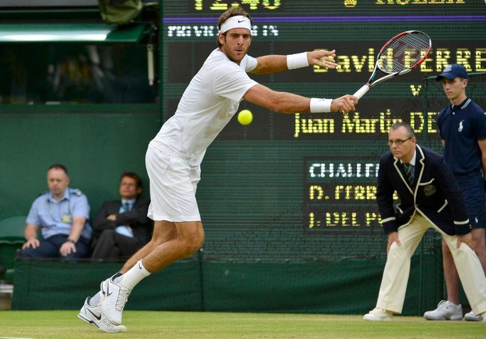
POLYGON ((310 51, 306 52, 306 56, 290 56, 294 58, 296 63, 289 65, 289 56, 269 55, 259 56, 257 58, 257 66, 249 71, 249 73, 262 75, 272 74, 287 71, 289 69, 301 68, 306 66, 321 66, 326 68, 336 68, 337 63, 334 62, 336 51, 310 51), (306 60, 305 60, 306 59, 306 60))

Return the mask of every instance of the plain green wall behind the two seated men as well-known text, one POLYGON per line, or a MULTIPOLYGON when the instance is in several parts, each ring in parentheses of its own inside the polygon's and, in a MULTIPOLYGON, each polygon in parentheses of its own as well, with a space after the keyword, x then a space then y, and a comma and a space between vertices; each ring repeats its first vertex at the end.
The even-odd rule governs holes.
POLYGON ((0 112, 0 219, 29 212, 33 199, 47 190, 47 168, 54 163, 68 167, 70 186, 86 194, 92 217, 103 201, 118 197, 123 171, 140 174, 148 198, 145 150, 159 128, 157 108, 145 113, 0 112))

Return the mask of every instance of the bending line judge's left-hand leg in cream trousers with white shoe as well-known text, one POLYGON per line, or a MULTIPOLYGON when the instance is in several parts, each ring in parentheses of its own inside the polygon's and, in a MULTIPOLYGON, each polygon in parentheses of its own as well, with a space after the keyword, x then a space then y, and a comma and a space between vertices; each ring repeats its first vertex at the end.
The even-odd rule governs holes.
POLYGON ((365 320, 391 320, 393 313, 402 312, 410 258, 429 227, 428 221, 415 216, 410 224, 398 229, 400 245, 393 243, 388 251, 376 308, 364 316, 365 320))

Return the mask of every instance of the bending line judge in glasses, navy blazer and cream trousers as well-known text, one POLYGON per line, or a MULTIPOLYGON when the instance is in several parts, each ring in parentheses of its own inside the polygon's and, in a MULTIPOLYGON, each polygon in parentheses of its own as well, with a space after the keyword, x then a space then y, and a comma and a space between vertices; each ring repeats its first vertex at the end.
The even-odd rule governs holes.
POLYGON ((401 313, 410 258, 425 232, 442 234, 453 255, 462 287, 476 315, 486 313, 486 277, 471 249, 471 226, 462 192, 443 157, 417 145, 403 122, 391 126, 390 151, 381 156, 376 201, 388 235, 386 265, 376 308, 365 320, 391 320, 401 313), (393 206, 394 192, 400 203, 393 206))

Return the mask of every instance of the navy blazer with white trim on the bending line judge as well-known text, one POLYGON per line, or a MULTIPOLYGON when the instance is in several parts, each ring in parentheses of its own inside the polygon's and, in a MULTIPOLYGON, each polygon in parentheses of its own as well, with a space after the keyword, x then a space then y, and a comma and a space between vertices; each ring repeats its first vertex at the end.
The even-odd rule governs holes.
POLYGON ((415 148, 415 177, 412 186, 400 170, 400 160, 391 152, 381 156, 376 200, 381 223, 388 234, 409 224, 415 213, 449 235, 470 231, 462 192, 443 157, 426 147, 415 148), (400 203, 393 208, 393 192, 400 203))

